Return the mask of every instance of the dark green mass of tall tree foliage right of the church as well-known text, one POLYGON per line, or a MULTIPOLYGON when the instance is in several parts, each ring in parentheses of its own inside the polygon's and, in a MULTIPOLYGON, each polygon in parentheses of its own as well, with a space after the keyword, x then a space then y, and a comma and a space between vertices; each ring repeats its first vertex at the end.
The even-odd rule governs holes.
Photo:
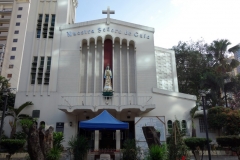
POLYGON ((228 40, 220 39, 211 44, 203 40, 180 41, 174 46, 179 91, 200 97, 199 91, 205 90, 208 107, 224 105, 224 89, 229 92, 237 90, 237 80, 226 83, 227 79, 233 78, 229 73, 239 65, 237 60, 228 58, 239 46, 228 50, 230 44, 228 40))

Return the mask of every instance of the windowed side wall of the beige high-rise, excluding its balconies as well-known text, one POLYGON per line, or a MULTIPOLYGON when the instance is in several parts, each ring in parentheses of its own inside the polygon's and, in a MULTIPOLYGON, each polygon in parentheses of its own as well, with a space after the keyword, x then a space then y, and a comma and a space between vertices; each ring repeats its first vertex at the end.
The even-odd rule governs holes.
MULTIPOLYGON (((7 1, 10 3, 10 0, 7 1)), ((29 23, 30 2, 30 0, 11 1, 11 5, 9 4, 9 7, 12 6, 11 15, 5 18, 8 20, 8 32, 3 32, 7 38, 4 42, 6 45, 1 75, 10 79, 11 88, 16 89, 19 85, 27 24, 29 23)))

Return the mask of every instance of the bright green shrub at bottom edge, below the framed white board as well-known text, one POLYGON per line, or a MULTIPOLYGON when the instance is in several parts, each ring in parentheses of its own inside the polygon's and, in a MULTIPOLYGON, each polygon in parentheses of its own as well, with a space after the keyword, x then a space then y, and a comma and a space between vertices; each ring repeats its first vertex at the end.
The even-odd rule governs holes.
POLYGON ((152 145, 149 149, 148 160, 167 160, 167 146, 152 145))

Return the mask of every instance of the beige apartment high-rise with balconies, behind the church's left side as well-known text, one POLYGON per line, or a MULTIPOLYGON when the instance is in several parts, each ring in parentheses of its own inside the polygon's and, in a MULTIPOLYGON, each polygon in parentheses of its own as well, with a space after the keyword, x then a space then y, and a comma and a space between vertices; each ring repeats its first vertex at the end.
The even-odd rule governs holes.
POLYGON ((1 75, 10 80, 11 88, 16 89, 22 65, 30 2, 30 0, 0 2, 0 46, 2 52, 4 51, 4 54, 1 54, 1 75))

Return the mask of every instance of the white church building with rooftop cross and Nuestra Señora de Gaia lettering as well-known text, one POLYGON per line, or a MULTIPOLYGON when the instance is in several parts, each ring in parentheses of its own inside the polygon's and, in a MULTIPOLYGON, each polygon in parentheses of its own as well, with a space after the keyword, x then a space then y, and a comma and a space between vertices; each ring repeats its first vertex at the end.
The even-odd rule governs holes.
POLYGON ((95 151, 119 150, 127 138, 146 147, 142 126, 160 130, 164 142, 176 119, 190 136, 189 111, 196 97, 178 91, 174 51, 154 46, 154 28, 112 19, 109 8, 103 11, 107 18, 74 23, 77 4, 30 2, 15 107, 32 101, 22 113, 62 131, 64 146, 72 136, 85 134, 95 151), (113 95, 104 96, 107 66, 113 95), (79 128, 80 121, 103 110, 128 122, 129 129, 79 128))

